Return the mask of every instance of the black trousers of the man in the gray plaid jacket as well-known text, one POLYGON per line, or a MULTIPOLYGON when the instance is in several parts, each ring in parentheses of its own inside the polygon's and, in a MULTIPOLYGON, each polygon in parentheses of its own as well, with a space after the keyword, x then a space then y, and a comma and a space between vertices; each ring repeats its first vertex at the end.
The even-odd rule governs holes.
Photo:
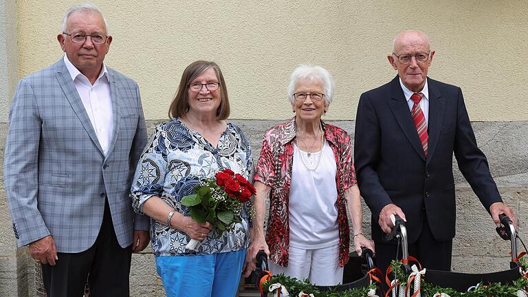
POLYGON ((84 252, 58 253, 56 265, 42 265, 48 297, 83 296, 88 280, 90 297, 129 296, 132 245, 121 248, 113 230, 108 202, 96 242, 84 252))

